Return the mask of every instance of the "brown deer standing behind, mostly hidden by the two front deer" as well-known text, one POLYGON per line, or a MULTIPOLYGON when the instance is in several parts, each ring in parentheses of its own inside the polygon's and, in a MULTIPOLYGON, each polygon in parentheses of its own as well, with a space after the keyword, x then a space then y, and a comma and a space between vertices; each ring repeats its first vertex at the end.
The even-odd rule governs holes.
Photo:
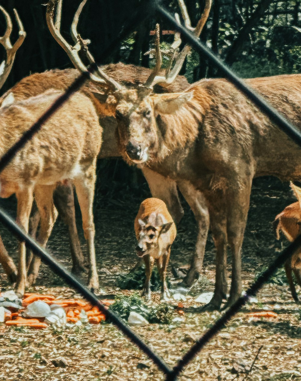
MULTIPOLYGON (((133 65, 125 65, 122 63, 110 64, 106 66, 116 80, 122 81, 126 84, 139 83, 149 76, 151 70, 136 67, 133 65)), ((65 90, 71 83, 78 77, 79 73, 76 69, 64 69, 64 70, 49 70, 43 73, 31 74, 29 77, 23 78, 20 82, 8 90, 0 98, 0 106, 6 97, 13 93, 14 101, 22 101, 24 99, 40 95, 45 91, 57 91, 65 90)), ((184 76, 179 76, 175 83, 168 85, 168 91, 181 91, 187 86, 187 80, 184 76)), ((167 91, 161 86, 156 86, 156 91, 167 91)), ((104 88, 99 85, 95 85, 91 81, 87 81, 83 86, 81 92, 88 95, 94 102, 98 114, 101 116, 101 125, 104 128, 103 131, 103 143, 99 152, 99 157, 112 157, 119 156, 117 141, 115 138, 116 133, 116 121, 114 106, 107 104, 107 96, 104 95, 104 88), (96 98, 97 96, 97 98, 96 98), (113 112, 114 111, 114 112, 113 112)), ((170 212, 172 213, 175 221, 179 221, 183 216, 183 208, 179 202, 178 192, 175 182, 170 179, 166 179, 158 173, 151 170, 144 171, 144 175, 151 187, 152 194, 158 196, 167 202, 170 212)), ((70 232, 70 246, 72 252, 73 267, 72 271, 79 273, 83 271, 83 255, 80 250, 80 242, 77 235, 77 229, 75 224, 74 215, 74 200, 72 187, 59 186, 55 192, 55 204, 58 208, 64 221, 68 223, 70 232)), ((32 221, 36 221, 37 225, 39 219, 35 216, 32 221)), ((33 227, 37 229, 37 226, 33 227)), ((0 263, 3 265, 6 273, 13 279, 16 275, 16 267, 13 264, 12 259, 8 256, 4 246, 0 246, 0 263), (3 250, 2 250, 3 249, 3 250), (12 275, 14 274, 14 275, 12 275)))

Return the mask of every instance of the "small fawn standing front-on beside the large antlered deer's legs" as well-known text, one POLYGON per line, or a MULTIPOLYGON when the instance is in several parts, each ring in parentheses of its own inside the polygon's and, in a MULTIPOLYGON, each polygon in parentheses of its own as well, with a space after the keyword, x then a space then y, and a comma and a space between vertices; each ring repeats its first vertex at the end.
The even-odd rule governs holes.
POLYGON ((161 300, 167 300, 170 293, 166 284, 166 271, 170 258, 170 250, 176 238, 176 225, 168 212, 164 201, 155 197, 141 202, 134 221, 137 245, 137 255, 143 258, 146 280, 142 296, 151 299, 151 275, 156 261, 161 279, 161 300))

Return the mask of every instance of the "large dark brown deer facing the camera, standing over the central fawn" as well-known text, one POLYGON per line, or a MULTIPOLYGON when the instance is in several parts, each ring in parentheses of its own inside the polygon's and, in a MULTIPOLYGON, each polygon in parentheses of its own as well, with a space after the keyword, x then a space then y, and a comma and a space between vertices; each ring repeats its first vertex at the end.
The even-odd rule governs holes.
MULTIPOLYGON (((300 179, 300 149, 225 79, 201 80, 178 94, 152 93, 155 83, 175 78, 181 59, 180 54, 165 78, 157 75, 157 43, 159 64, 144 86, 115 89, 119 145, 126 160, 202 192, 217 250, 215 291, 206 308, 219 309, 227 289, 227 245, 232 281, 226 306, 242 292, 241 247, 252 179, 300 179)), ((301 128, 301 75, 246 83, 301 128)))

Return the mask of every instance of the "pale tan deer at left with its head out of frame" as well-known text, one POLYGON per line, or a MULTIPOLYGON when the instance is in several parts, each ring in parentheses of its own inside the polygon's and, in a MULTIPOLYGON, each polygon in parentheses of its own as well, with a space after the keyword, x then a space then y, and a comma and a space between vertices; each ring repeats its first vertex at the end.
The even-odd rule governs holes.
MULTIPOLYGON (((6 40, 10 29, 8 24, 6 40)), ((7 43, 5 47, 8 47, 7 43)), ((9 53, 8 50, 8 57, 9 53)), ((10 65, 6 63, 3 67, 7 68, 3 75, 7 75, 10 65)), ((19 101, 6 97, 0 108, 0 156, 3 156, 62 94, 61 90, 46 90, 19 101)), ((30 210, 35 199, 40 213, 37 241, 43 247, 57 217, 53 191, 58 182, 64 182, 66 179, 72 181, 77 192, 83 231, 88 244, 88 287, 93 290, 99 287, 94 249, 93 197, 96 160, 101 143, 102 127, 99 124, 95 101, 91 96, 78 92, 70 96, 34 137, 16 152, 0 173, 0 197, 6 198, 16 194, 16 221, 25 232, 28 232, 30 210)), ((15 287, 18 295, 23 295, 26 285, 35 281, 39 265, 40 258, 34 256, 27 276, 25 243, 20 242, 15 287)))

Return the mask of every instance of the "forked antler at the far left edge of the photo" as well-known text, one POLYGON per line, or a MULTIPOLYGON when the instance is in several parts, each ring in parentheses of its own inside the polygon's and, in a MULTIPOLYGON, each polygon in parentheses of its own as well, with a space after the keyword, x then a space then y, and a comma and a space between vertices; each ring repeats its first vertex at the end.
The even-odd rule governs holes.
POLYGON ((16 51, 22 45, 24 38, 26 37, 26 32, 22 25, 21 19, 19 18, 18 12, 16 11, 16 9, 14 9, 14 15, 16 17, 16 20, 19 26, 19 37, 18 37, 18 40, 14 43, 14 45, 11 45, 10 35, 11 35, 11 31, 13 30, 13 24, 11 22, 10 15, 6 12, 6 10, 1 5, 0 5, 0 10, 4 14, 5 21, 6 21, 5 33, 2 37, 0 37, 0 44, 3 45, 6 50, 6 59, 2 61, 0 65, 0 88, 2 88, 4 82, 6 81, 6 78, 8 77, 8 74, 10 74, 11 68, 13 67, 16 51))

